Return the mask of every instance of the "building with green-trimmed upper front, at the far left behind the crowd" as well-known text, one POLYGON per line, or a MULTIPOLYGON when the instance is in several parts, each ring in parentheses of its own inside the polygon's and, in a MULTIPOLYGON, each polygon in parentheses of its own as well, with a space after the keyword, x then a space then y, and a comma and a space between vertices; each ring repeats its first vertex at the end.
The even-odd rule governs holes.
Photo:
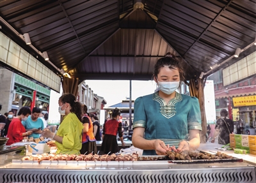
POLYGON ((41 108, 44 113, 49 111, 50 89, 42 87, 5 68, 0 68, 0 73, 2 113, 13 110, 16 114, 22 106, 33 107, 31 105, 34 93, 36 94, 35 106, 41 108))

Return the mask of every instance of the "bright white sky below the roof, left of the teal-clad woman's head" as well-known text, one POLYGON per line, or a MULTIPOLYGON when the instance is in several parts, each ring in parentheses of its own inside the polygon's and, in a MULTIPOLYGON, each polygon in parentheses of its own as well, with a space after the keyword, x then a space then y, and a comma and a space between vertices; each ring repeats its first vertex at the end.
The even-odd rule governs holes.
MULTIPOLYGON (((85 82, 94 94, 107 101, 106 106, 120 103, 122 99, 130 96, 129 80, 86 80, 85 82)), ((154 81, 132 80, 132 99, 152 94, 155 89, 156 83, 154 81)))

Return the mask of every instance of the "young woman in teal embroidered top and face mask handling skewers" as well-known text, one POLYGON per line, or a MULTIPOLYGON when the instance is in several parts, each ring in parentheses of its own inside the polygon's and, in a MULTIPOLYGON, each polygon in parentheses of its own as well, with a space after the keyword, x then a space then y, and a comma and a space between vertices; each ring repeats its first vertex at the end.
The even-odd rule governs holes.
POLYGON ((184 81, 182 63, 168 53, 157 61, 153 77, 157 91, 134 103, 132 145, 143 155, 166 154, 168 145, 197 149, 202 130, 198 99, 175 91, 184 81))

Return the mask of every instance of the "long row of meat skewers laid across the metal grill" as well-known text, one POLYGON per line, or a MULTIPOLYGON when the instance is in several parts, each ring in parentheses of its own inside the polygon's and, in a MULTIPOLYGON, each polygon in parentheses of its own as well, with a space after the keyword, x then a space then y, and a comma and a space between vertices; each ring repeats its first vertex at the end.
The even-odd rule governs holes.
MULTIPOLYGON (((230 162, 243 162, 243 159, 237 159, 236 157, 228 156, 225 153, 217 152, 216 154, 210 154, 203 151, 183 151, 183 152, 174 152, 168 151, 166 155, 163 156, 138 156, 136 153, 132 154, 80 154, 80 155, 67 155, 67 154, 36 154, 32 156, 25 156, 22 158, 24 161, 37 161, 39 164, 42 161, 86 161, 88 163, 92 161, 161 161, 165 160, 168 163, 173 164, 196 164, 196 163, 230 163, 230 162)), ((68 163, 67 162, 67 163, 68 163)), ((72 163, 72 162, 70 162, 72 163)), ((69 163, 68 163, 69 164, 69 163)))

